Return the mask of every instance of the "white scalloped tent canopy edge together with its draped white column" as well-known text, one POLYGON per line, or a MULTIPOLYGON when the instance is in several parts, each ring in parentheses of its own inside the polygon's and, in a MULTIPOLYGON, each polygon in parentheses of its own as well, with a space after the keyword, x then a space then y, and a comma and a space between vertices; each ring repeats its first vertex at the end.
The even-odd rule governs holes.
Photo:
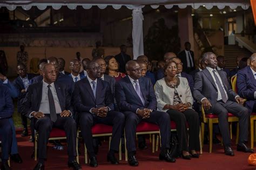
POLYGON ((165 8, 171 9, 174 5, 178 5, 180 9, 191 6, 193 9, 198 9, 200 6, 205 6, 206 9, 212 9, 217 6, 219 9, 224 9, 229 6, 231 9, 236 9, 241 6, 247 10, 250 6, 249 0, 215 0, 214 3, 210 0, 36 0, 36 1, 1 1, 0 8, 5 6, 8 10, 15 10, 17 6, 21 6, 24 10, 30 10, 32 6, 37 6, 39 10, 44 10, 48 6, 58 10, 62 6, 67 6, 71 10, 75 10, 77 6, 82 6, 84 9, 90 9, 92 6, 98 6, 99 9, 105 9, 108 5, 118 10, 122 6, 133 10, 132 11, 132 39, 133 39, 133 58, 144 54, 143 47, 143 13, 142 8, 145 5, 151 5, 151 8, 157 9, 159 5, 164 5, 165 8))

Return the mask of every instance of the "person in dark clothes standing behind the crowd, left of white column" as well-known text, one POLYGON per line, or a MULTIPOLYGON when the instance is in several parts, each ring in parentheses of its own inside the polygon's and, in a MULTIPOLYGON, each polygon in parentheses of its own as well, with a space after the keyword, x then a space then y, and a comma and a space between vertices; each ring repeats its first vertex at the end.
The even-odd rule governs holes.
POLYGON ((116 58, 117 62, 119 63, 119 72, 125 73, 125 64, 131 60, 131 56, 126 55, 127 47, 126 45, 120 46, 120 53, 114 58, 116 58))

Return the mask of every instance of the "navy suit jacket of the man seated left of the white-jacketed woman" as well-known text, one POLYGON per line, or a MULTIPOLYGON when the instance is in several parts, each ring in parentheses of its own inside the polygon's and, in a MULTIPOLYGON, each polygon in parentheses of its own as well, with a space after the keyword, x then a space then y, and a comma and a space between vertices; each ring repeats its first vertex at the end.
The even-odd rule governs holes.
POLYGON ((156 110, 157 99, 150 79, 146 77, 139 78, 139 86, 145 100, 145 105, 143 105, 140 100, 128 76, 116 82, 116 90, 114 94, 121 111, 131 111, 136 113, 138 108, 150 108, 156 110))

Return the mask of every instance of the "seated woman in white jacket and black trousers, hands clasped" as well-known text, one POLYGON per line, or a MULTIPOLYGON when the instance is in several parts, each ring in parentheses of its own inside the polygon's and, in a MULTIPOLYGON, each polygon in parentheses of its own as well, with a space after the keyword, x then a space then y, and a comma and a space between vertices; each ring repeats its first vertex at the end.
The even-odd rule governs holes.
POLYGON ((177 72, 176 62, 171 61, 165 68, 166 77, 157 81, 157 108, 167 112, 177 125, 178 154, 184 159, 191 159, 191 155, 193 158, 199 158, 196 152, 200 149, 198 113, 192 108, 193 97, 187 79, 177 76, 177 72), (189 126, 189 140, 186 122, 189 126))

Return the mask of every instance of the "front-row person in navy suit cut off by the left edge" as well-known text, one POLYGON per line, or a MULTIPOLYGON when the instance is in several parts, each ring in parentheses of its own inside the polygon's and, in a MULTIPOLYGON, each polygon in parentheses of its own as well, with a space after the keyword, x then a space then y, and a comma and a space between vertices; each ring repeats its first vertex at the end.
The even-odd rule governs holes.
POLYGON ((12 127, 9 118, 14 113, 14 105, 12 104, 11 95, 8 87, 0 84, 0 136, 2 141, 2 170, 9 170, 8 165, 9 154, 11 152, 12 127))

